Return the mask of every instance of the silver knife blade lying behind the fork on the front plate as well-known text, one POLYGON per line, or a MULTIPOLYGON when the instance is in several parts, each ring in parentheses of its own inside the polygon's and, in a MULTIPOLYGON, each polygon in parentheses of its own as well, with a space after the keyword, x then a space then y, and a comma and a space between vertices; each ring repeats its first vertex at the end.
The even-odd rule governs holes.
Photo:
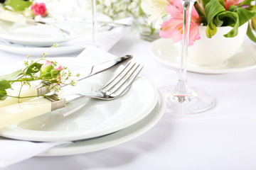
MULTIPOLYGON (((95 74, 99 74, 101 72, 105 72, 109 69, 112 69, 114 67, 117 67, 121 64, 124 64, 125 62, 128 62, 129 60, 132 60, 132 55, 125 55, 123 57, 119 57, 114 60, 109 60, 107 62, 102 62, 100 64, 95 64, 92 67, 87 67, 85 69, 79 70, 78 72, 80 73, 80 79, 78 81, 81 81, 83 79, 86 79, 88 77, 91 77, 95 74)), ((64 86, 67 86, 69 84, 65 84, 64 86)), ((41 86, 40 88, 37 89, 38 96, 42 96, 43 94, 46 94, 49 91, 47 86, 41 86)))

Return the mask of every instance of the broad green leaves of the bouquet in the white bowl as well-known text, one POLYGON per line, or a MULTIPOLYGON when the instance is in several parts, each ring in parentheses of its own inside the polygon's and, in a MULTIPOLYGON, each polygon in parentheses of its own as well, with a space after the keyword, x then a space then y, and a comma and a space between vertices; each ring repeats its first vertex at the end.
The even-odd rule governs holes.
MULTIPOLYGON (((237 6, 228 6, 228 10, 226 10, 223 0, 202 0, 204 13, 195 6, 199 16, 203 19, 201 23, 207 26, 206 35, 208 38, 215 35, 220 26, 232 27, 230 32, 223 36, 233 38, 238 35, 238 28, 250 20, 252 20, 252 29, 256 30, 256 5, 251 6, 251 1, 254 0, 245 0, 237 6)), ((251 28, 248 29, 248 37, 256 42, 251 28)))

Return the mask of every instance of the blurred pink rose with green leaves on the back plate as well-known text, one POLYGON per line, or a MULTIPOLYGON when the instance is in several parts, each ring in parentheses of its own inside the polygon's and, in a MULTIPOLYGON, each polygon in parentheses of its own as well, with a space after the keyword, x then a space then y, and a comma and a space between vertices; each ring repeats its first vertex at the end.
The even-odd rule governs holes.
POLYGON ((47 16, 47 8, 44 3, 34 3, 33 0, 1 0, 0 3, 5 10, 21 13, 26 17, 47 16))

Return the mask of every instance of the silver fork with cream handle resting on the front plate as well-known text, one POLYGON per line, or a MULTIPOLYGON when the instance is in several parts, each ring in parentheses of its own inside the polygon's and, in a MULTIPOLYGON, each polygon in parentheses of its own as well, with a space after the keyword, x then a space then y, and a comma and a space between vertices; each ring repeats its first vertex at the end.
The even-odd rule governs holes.
POLYGON ((90 94, 73 94, 58 99, 56 94, 44 98, 34 98, 31 101, 17 103, 11 106, 0 108, 0 129, 9 125, 34 118, 38 115, 63 108, 66 104, 81 100, 83 98, 97 98, 102 100, 112 100, 129 90, 135 79, 139 76, 143 66, 141 64, 127 64, 121 72, 107 82, 97 91, 90 94))

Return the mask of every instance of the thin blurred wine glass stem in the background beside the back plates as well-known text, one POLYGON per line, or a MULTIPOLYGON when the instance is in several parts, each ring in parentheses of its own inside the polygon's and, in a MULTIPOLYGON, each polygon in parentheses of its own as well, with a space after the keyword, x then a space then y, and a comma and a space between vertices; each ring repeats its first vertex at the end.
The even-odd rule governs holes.
POLYGON ((97 47, 97 1, 92 0, 92 45, 97 47))

